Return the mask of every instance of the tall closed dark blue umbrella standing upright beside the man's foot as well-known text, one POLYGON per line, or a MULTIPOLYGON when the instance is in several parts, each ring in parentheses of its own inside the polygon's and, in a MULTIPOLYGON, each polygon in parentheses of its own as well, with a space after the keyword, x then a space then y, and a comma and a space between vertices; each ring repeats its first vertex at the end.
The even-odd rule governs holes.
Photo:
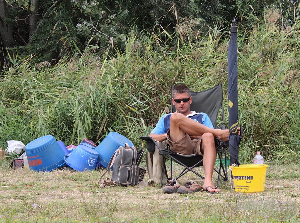
POLYGON ((227 53, 228 60, 228 111, 229 111, 229 155, 230 165, 240 165, 238 150, 241 136, 238 135, 238 52, 236 44, 236 20, 232 19, 230 40, 227 53))

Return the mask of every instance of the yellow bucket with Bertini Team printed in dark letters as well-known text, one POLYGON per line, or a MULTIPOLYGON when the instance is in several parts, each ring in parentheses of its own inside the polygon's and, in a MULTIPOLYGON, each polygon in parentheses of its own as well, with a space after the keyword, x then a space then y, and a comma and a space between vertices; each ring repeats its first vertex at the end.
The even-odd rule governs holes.
POLYGON ((230 166, 235 192, 252 193, 265 190, 266 164, 230 166))

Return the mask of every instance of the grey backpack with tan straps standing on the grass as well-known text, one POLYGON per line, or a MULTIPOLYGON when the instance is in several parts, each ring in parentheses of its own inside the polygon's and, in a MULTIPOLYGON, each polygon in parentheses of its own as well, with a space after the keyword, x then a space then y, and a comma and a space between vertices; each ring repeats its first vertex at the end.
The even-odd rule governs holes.
POLYGON ((120 146, 115 151, 107 170, 102 174, 99 179, 99 185, 106 187, 110 185, 118 186, 135 186, 144 179, 146 170, 138 167, 143 157, 144 149, 137 153, 137 149, 129 147, 126 143, 125 146, 120 146), (102 179, 105 174, 110 175, 110 169, 113 167, 112 177, 102 179))

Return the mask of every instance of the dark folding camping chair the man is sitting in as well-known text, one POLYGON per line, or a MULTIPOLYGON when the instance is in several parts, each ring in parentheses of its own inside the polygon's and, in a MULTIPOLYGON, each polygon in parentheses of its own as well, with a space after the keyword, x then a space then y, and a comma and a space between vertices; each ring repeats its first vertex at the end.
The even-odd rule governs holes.
MULTIPOLYGON (((172 86, 171 90, 173 91, 174 86, 172 86)), ((172 95, 172 92, 171 92, 172 95)), ((222 90, 222 84, 218 84, 214 86, 213 88, 210 88, 206 91, 201 92, 195 92, 191 91, 191 96, 193 97, 193 103, 190 105, 190 110, 195 112, 204 112, 210 117, 211 122, 215 129, 226 129, 225 127, 225 121, 224 121, 224 109, 223 109, 223 90, 222 90), (217 126, 217 117, 221 109, 221 115, 222 115, 222 124, 220 127, 217 126)), ((172 105, 172 103, 171 103, 172 105)), ((175 106, 172 105, 171 112, 175 111, 175 106)), ((156 141, 149 136, 146 137, 140 137, 140 139, 146 141, 146 149, 149 152, 153 152, 155 149, 155 146, 158 147, 159 151, 158 153, 160 155, 164 156, 164 165, 163 170, 161 171, 161 185, 162 186, 162 180, 164 177, 164 174, 166 174, 167 179, 173 179, 173 160, 178 163, 179 165, 182 165, 184 167, 184 170, 176 177, 178 179, 179 177, 182 177, 187 172, 191 171, 197 176, 204 179, 204 177, 197 173, 194 168, 199 167, 203 165, 203 156, 201 155, 182 155, 178 153, 174 153, 172 150, 170 150, 170 146, 167 146, 167 148, 160 148, 156 141), (170 175, 171 177, 168 178, 167 174, 167 168, 166 168, 166 159, 167 157, 170 157, 170 175)), ((217 186, 219 186, 220 177, 223 178, 224 181, 228 180, 227 177, 227 157, 226 157, 226 148, 228 146, 228 142, 224 143, 223 141, 220 141, 220 145, 216 148, 217 158, 220 160, 219 168, 214 168, 214 171, 218 174, 217 179, 217 186), (225 167, 222 162, 222 156, 225 156, 225 167), (223 172, 223 174, 222 174, 223 172)))

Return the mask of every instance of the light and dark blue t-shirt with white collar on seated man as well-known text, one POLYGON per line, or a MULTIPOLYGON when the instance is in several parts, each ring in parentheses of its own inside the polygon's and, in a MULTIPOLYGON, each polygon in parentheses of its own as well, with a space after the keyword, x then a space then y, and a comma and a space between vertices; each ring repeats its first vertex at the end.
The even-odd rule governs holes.
MULTIPOLYGON (((158 120, 158 123, 156 124, 155 128, 152 130, 151 133, 155 133, 155 134, 167 133, 168 130, 170 129, 170 118, 171 118, 172 114, 173 113, 164 114, 158 120)), ((199 112, 192 111, 192 114, 188 114, 187 117, 196 122, 199 122, 209 128, 212 128, 212 129, 214 128, 208 115, 203 112, 199 113, 199 112)))

